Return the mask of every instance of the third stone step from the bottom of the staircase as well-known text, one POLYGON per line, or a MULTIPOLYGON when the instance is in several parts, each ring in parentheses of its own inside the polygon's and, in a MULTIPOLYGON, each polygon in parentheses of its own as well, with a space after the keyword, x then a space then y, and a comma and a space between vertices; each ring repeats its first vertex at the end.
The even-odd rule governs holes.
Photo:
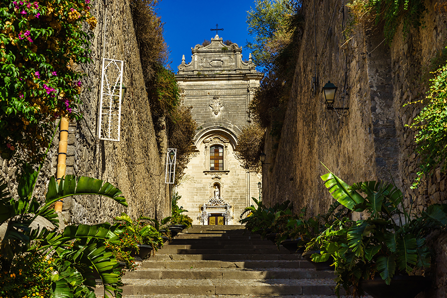
POLYGON ((304 260, 281 260, 281 261, 212 261, 212 260, 147 260, 141 263, 142 269, 167 268, 313 268, 313 265, 304 260))

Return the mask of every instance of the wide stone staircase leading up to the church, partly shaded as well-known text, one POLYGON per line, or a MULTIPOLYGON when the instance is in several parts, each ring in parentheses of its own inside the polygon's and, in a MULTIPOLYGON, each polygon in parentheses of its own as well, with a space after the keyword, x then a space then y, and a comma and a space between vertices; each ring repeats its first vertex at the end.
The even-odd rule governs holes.
POLYGON ((123 297, 329 298, 335 296, 333 277, 244 226, 202 225, 180 233, 126 273, 123 297))

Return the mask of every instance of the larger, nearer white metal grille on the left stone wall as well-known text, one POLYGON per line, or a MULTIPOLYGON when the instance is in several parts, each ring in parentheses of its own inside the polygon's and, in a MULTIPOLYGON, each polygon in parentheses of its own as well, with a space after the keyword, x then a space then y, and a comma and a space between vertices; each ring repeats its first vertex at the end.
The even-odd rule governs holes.
POLYGON ((124 61, 102 60, 99 104, 99 139, 120 141, 121 99, 124 61))

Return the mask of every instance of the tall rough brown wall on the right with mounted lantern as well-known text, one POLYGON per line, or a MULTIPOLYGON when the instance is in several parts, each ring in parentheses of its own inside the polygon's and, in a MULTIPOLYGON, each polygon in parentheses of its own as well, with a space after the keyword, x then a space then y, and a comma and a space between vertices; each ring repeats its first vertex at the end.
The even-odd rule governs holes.
MULTIPOLYGON (((447 180, 439 169, 418 189, 410 189, 419 159, 414 153, 415 133, 405 125, 412 123, 421 106, 403 106, 421 99, 427 91, 421 78, 437 51, 446 46, 446 11, 441 10, 439 1, 427 0, 425 25, 412 28, 405 38, 402 27, 398 28, 387 45, 380 24, 372 29, 353 28, 348 36, 352 39, 347 41, 342 33, 347 9, 335 2, 316 3, 320 79, 317 95, 312 94, 310 86, 315 72, 313 2, 303 2, 305 28, 278 148, 270 138, 266 139, 263 202, 272 205, 290 199, 296 210, 307 206, 308 215, 326 212, 332 197, 320 179, 327 172, 324 163, 349 184, 391 181, 392 177, 403 191, 407 206, 410 199, 418 209, 431 203, 447 203, 447 180), (328 80, 338 86, 334 106, 343 106, 344 97, 348 117, 326 110, 320 92, 328 80)), ((437 253, 432 268, 435 287, 423 295, 445 297, 445 236, 433 246, 437 253)))

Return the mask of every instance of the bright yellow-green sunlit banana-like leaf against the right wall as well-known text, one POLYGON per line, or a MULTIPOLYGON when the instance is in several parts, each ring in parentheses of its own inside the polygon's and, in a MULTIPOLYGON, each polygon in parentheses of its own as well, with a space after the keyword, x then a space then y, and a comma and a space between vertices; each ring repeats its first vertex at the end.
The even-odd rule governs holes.
POLYGON ((335 176, 332 172, 321 176, 321 179, 323 181, 326 181, 324 183, 324 186, 326 186, 326 188, 329 190, 332 197, 334 197, 335 200, 337 200, 346 208, 354 210, 356 205, 361 204, 365 201, 365 199, 358 192, 350 190, 349 185, 335 176))

